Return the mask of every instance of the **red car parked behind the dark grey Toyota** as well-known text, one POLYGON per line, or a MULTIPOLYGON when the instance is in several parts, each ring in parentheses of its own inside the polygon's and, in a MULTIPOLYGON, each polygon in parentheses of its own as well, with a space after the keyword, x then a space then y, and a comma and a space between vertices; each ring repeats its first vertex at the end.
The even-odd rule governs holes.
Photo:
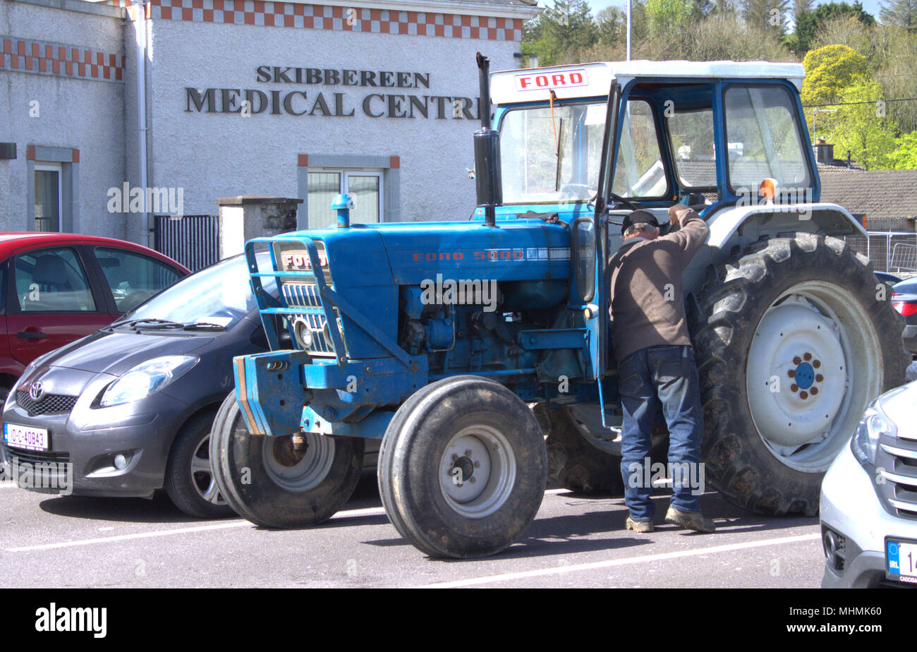
POLYGON ((33 359, 191 273, 157 251, 70 233, 0 233, 0 404, 33 359))

